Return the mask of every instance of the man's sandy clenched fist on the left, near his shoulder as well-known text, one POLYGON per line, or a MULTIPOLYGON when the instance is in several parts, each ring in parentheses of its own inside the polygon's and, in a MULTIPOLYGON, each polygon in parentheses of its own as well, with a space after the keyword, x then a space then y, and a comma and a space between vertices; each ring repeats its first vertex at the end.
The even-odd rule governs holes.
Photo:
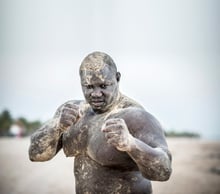
POLYGON ((71 103, 64 104, 58 110, 56 116, 58 117, 59 128, 66 130, 79 119, 79 105, 71 103))

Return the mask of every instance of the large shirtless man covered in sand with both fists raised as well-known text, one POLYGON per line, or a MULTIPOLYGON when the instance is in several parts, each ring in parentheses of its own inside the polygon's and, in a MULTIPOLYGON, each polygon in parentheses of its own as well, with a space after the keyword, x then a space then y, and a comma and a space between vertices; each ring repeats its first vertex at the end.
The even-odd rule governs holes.
POLYGON ((31 137, 31 161, 63 148, 74 157, 77 194, 150 194, 150 180, 166 181, 171 154, 159 122, 119 92, 120 73, 105 53, 80 66, 85 101, 68 101, 31 137))

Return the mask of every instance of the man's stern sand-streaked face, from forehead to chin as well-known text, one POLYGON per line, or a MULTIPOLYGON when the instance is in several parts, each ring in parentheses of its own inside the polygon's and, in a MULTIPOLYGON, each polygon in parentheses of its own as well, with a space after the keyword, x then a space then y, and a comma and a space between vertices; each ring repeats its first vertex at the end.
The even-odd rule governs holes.
POLYGON ((117 100, 119 89, 115 72, 107 65, 95 71, 84 69, 81 73, 84 97, 96 113, 111 109, 117 100))

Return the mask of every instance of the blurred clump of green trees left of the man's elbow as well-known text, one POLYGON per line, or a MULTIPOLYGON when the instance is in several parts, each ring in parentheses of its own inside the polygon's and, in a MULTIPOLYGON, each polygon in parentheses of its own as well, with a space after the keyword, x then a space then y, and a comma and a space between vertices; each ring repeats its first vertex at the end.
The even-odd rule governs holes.
POLYGON ((0 113, 0 136, 10 136, 10 127, 17 124, 23 128, 21 136, 30 135, 41 126, 40 121, 28 121, 27 119, 13 118, 8 110, 3 110, 0 113))

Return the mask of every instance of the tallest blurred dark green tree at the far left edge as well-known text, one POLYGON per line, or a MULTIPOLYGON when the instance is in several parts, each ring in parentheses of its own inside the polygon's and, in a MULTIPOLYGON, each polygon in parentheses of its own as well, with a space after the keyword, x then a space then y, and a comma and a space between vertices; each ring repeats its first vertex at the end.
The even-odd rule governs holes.
POLYGON ((0 114, 0 136, 8 135, 9 128, 13 123, 13 118, 8 110, 3 110, 0 114))

